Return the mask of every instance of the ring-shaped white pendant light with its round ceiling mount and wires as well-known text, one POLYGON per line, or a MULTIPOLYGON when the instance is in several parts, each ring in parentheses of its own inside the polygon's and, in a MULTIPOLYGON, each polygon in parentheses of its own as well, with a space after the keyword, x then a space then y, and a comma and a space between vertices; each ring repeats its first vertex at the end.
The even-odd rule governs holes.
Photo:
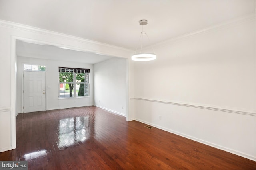
POLYGON ((136 53, 137 52, 137 49, 138 49, 138 45, 137 45, 137 48, 135 50, 135 54, 132 55, 132 60, 134 61, 150 61, 150 60, 154 60, 156 59, 156 54, 155 54, 155 51, 153 49, 153 47, 151 46, 152 48, 152 51, 154 53, 142 53, 142 41, 143 41, 143 36, 147 36, 148 38, 148 42, 150 42, 149 40, 149 37, 147 35, 147 32, 146 32, 146 25, 148 24, 148 21, 147 20, 140 20, 140 25, 141 25, 141 34, 140 34, 140 40, 139 40, 139 43, 138 45, 140 44, 140 53, 136 53), (145 27, 145 28, 144 28, 145 27))

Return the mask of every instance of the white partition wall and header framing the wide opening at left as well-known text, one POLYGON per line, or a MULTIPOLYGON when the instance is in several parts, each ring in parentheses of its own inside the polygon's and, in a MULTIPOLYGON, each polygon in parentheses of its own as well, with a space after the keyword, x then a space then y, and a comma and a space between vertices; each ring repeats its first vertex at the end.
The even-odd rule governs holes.
MULTIPOLYGON (((5 81, 4 84, 0 84, 0 152, 16 148, 15 115, 18 113, 15 101, 16 39, 115 57, 127 58, 132 53, 132 51, 121 47, 3 20, 0 20, 0 37, 0 77, 5 81)), ((53 71, 55 72, 55 70, 53 71)), ((48 104, 48 107, 55 108, 55 104, 56 100, 54 100, 54 105, 48 104)))

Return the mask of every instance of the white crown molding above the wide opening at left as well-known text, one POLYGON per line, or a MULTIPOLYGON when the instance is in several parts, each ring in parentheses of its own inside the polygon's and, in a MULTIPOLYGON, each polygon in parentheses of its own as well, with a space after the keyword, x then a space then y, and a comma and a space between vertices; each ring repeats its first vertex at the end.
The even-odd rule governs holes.
POLYGON ((100 45, 100 46, 104 46, 104 47, 110 47, 110 48, 113 48, 113 49, 129 51, 129 52, 132 51, 131 49, 126 49, 124 47, 118 47, 118 46, 115 46, 115 45, 101 43, 101 42, 98 42, 98 41, 84 39, 84 38, 76 37, 76 36, 73 36, 73 35, 58 33, 58 32, 54 32, 54 31, 41 29, 41 28, 37 28, 37 27, 32 27, 32 26, 29 26, 29 25, 23 25, 23 24, 20 24, 20 23, 15 23, 15 22, 6 21, 6 20, 0 20, 0 26, 19 29, 19 30, 24 30, 24 31, 30 31, 30 32, 34 32, 34 33, 44 34, 44 35, 50 35, 50 36, 54 36, 54 37, 58 37, 58 38, 64 38, 64 39, 68 39, 68 40, 72 40, 72 41, 78 41, 80 43, 100 45))

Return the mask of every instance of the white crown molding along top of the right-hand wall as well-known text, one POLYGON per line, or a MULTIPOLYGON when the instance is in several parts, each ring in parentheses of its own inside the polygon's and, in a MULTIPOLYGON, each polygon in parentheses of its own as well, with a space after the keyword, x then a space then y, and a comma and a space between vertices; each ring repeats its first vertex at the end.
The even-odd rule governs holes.
POLYGON ((238 18, 235 18, 235 19, 232 19, 232 20, 224 21, 224 22, 218 23, 216 25, 206 27, 204 29, 199 29, 197 31, 192 31, 190 33, 186 33, 186 34, 183 34, 183 35, 173 37, 173 38, 168 39, 166 41, 156 43, 152 46, 147 46, 144 49, 151 48, 151 47, 153 47, 154 49, 157 49, 159 47, 163 47, 163 46, 171 44, 171 43, 176 43, 178 41, 182 41, 183 39, 187 39, 187 38, 193 37, 195 35, 200 35, 200 34, 203 34, 203 33, 216 31, 218 29, 224 29, 224 28, 227 28, 227 27, 230 27, 230 26, 233 26, 233 25, 239 25, 239 24, 242 24, 244 22, 254 21, 254 20, 256 20, 256 13, 250 13, 248 15, 241 16, 241 17, 238 17, 238 18))

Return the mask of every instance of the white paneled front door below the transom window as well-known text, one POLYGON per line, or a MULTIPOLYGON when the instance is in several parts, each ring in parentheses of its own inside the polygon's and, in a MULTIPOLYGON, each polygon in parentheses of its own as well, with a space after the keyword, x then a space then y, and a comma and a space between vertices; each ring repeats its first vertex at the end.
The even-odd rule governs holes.
POLYGON ((45 72, 24 71, 24 113, 46 110, 45 72))

